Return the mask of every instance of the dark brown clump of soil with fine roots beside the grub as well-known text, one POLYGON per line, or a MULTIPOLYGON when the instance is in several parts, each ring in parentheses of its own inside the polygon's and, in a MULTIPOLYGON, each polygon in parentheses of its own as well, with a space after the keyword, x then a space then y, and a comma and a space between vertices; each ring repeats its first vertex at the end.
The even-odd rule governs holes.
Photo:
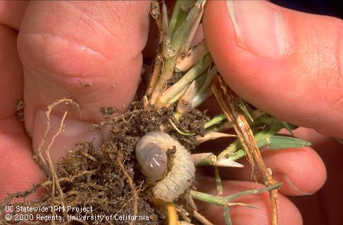
MULTIPOLYGON (((91 212, 68 212, 69 215, 135 215, 143 216, 144 220, 135 220, 135 224, 161 224, 165 216, 154 205, 151 196, 151 184, 146 181, 142 170, 135 159, 135 146, 137 141, 149 131, 165 131, 177 139, 185 148, 195 149, 194 136, 184 136, 169 127, 169 120, 184 132, 203 134, 204 122, 208 120, 206 113, 192 110, 185 114, 179 121, 173 115, 175 108, 156 109, 143 108, 141 102, 130 105, 127 113, 117 117, 110 117, 117 111, 113 108, 101 108, 100 112, 106 120, 94 124, 94 129, 110 129, 111 139, 103 143, 101 148, 96 148, 92 143, 82 142, 75 145, 74 150, 66 158, 61 159, 56 165, 56 177, 60 189, 51 191, 53 177, 49 177, 44 184, 35 186, 31 191, 10 195, 5 204, 13 203, 15 198, 27 197, 35 193, 38 188, 46 188, 46 195, 39 202, 13 203, 29 207, 92 207, 91 212), (54 195, 53 195, 54 193, 54 195), (135 195, 137 193, 137 195, 135 195), (136 198, 137 197, 137 198, 136 198), (137 210, 135 212, 135 210, 137 210), (149 217, 148 220, 146 220, 149 217)), ((173 149, 170 150, 170 155, 173 149)), ((4 206, 1 206, 4 207, 4 206)), ((1 209, 2 210, 2 209, 1 209)), ((32 214, 32 212, 31 212, 32 214)), ((42 212, 39 212, 42 214, 42 212)), ((51 210, 46 214, 51 214, 51 210)), ((64 221, 55 220, 55 224, 130 224, 130 220, 94 220, 79 221, 67 218, 66 210, 54 212, 64 218, 64 221)), ((3 215, 4 216, 4 215, 3 215)), ((85 218, 85 217, 83 217, 85 218)), ((4 224, 9 221, 2 220, 4 224)), ((14 221, 11 222, 13 224, 14 221)), ((35 224, 50 224, 51 221, 35 221, 35 224)), ((1 220, 0 220, 1 224, 1 220)))

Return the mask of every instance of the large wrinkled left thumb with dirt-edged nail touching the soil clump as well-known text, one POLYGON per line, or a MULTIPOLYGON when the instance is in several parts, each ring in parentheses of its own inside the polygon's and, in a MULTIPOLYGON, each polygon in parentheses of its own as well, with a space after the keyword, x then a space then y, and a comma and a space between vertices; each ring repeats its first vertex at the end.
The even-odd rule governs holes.
POLYGON ((23 17, 18 51, 25 73, 25 126, 36 150, 46 129, 44 111, 61 98, 73 98, 80 113, 58 106, 51 115, 51 136, 68 110, 66 131, 51 148, 56 160, 76 141, 99 145, 90 132, 99 107, 125 110, 135 96, 142 49, 149 27, 149 1, 38 1, 23 17))

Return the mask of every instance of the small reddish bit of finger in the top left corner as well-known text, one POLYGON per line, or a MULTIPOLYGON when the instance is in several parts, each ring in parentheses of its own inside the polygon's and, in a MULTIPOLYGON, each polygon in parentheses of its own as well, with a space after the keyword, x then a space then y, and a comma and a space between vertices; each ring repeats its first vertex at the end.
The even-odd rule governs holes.
POLYGON ((0 23, 19 30, 29 1, 0 1, 0 23))

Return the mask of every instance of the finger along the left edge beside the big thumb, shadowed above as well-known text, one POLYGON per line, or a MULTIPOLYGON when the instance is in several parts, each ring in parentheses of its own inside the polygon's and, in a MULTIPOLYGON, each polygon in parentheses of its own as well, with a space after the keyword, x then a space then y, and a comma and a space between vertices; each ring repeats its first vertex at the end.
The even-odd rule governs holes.
POLYGON ((15 118, 15 102, 23 99, 23 67, 16 39, 17 32, 0 25, 0 202, 8 193, 26 191, 44 180, 32 159, 23 123, 15 118))

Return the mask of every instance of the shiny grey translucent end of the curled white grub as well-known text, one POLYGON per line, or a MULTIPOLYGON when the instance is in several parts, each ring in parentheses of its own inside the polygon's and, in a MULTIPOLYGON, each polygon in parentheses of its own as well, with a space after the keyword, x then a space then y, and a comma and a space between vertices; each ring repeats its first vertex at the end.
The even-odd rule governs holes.
POLYGON ((136 146, 138 164, 151 181, 161 180, 167 172, 168 158, 166 150, 158 146, 158 143, 155 141, 150 141, 144 137, 139 139, 136 146))

